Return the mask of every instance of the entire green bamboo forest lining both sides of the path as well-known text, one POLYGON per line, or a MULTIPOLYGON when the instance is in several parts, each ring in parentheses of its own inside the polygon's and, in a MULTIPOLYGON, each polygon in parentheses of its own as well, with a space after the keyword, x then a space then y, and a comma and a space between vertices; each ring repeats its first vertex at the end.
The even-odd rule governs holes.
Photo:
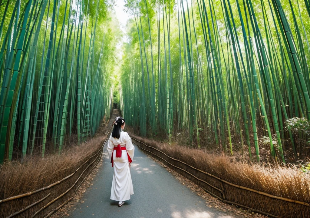
POLYGON ((125 0, 124 42, 114 4, 0 0, 1 161, 80 144, 113 102, 170 144, 309 154, 308 0, 125 0))

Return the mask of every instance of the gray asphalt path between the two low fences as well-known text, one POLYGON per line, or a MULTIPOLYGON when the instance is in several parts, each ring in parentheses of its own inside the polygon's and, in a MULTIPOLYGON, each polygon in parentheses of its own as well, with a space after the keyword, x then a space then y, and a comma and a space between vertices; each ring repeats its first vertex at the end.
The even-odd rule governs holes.
POLYGON ((165 168, 148 158, 135 145, 131 163, 131 178, 134 195, 122 207, 110 200, 113 168, 106 146, 103 164, 93 185, 87 188, 83 203, 69 212, 74 218, 229 218, 223 212, 205 205, 204 200, 182 185, 165 168))

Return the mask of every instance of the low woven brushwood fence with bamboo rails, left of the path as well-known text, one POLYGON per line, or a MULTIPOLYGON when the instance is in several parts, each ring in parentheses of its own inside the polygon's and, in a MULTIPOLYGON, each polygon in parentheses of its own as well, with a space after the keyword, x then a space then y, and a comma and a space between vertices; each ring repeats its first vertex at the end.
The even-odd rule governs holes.
POLYGON ((94 155, 62 180, 29 193, 0 200, 0 217, 51 216, 73 198, 86 176, 98 164, 106 140, 107 137, 101 141, 102 146, 94 155))

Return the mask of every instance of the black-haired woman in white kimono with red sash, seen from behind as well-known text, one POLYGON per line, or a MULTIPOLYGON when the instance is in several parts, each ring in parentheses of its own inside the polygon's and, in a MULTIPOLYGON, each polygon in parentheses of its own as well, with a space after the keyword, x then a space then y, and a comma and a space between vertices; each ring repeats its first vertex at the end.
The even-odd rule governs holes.
POLYGON ((125 128, 124 118, 115 118, 113 125, 107 146, 109 158, 112 167, 114 167, 110 199, 118 201, 118 206, 121 207, 124 201, 129 200, 130 195, 134 194, 130 163, 134 157, 135 147, 132 145, 128 133, 122 131, 125 128))

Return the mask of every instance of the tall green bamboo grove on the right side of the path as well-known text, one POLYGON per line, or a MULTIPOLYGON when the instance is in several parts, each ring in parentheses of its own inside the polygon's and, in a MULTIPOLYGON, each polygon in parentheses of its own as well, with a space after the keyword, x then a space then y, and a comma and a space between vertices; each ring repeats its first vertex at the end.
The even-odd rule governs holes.
POLYGON ((284 129, 287 119, 309 119, 306 4, 126 1, 134 15, 121 69, 121 109, 128 122, 167 140, 187 132, 197 147, 208 136, 230 153, 232 141, 245 143, 250 156, 255 148, 257 161, 259 144, 268 143, 270 155, 285 162, 282 141, 290 140, 296 156, 294 129, 284 129))

